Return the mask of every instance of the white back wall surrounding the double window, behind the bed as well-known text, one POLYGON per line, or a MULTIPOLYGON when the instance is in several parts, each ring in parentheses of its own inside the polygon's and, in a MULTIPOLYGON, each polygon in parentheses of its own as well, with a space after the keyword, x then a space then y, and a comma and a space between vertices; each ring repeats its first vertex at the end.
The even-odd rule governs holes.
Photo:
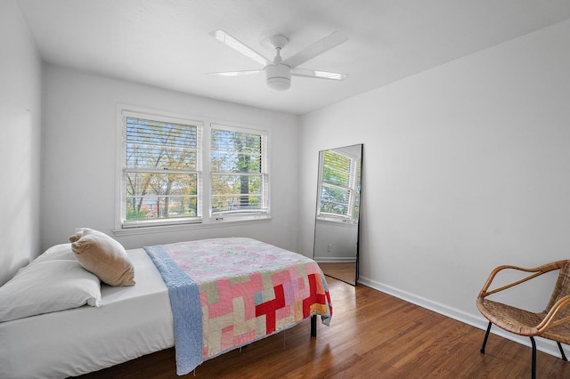
POLYGON ((44 248, 67 242, 77 227, 113 236, 118 103, 253 125, 270 132, 271 146, 271 221, 117 237, 126 248, 242 236, 298 250, 297 209, 289 206, 297 204, 298 117, 52 65, 45 68, 44 248))

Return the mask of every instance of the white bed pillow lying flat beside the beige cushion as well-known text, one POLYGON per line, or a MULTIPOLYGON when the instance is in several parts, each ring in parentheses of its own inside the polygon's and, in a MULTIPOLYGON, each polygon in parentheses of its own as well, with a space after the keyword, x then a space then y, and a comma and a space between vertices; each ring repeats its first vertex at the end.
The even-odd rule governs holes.
POLYGON ((48 249, 0 287, 0 322, 102 305, 101 281, 75 260, 70 244, 63 245, 48 249))

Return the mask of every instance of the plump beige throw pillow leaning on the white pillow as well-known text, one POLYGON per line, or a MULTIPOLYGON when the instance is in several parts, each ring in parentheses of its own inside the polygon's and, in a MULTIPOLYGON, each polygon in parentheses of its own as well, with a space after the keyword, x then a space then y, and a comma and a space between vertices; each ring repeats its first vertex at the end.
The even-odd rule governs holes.
POLYGON ((133 263, 125 248, 101 231, 77 229, 69 237, 71 250, 85 270, 110 286, 134 286, 133 263))

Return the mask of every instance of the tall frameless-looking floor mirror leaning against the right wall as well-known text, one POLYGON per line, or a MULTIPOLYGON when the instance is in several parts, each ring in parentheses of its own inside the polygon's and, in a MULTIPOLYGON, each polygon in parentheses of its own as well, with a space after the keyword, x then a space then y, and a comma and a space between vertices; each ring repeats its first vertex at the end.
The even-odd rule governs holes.
POLYGON ((325 275, 358 280, 362 144, 319 152, 314 260, 325 275))

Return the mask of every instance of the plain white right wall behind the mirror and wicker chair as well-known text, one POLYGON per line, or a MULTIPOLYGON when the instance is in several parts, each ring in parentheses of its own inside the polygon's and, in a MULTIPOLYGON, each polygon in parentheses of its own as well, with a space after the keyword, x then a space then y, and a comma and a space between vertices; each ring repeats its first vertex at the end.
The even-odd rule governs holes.
POLYGON ((362 142, 362 283, 483 324, 495 266, 570 258, 569 100, 566 20, 301 117, 301 250, 318 151, 362 142))

